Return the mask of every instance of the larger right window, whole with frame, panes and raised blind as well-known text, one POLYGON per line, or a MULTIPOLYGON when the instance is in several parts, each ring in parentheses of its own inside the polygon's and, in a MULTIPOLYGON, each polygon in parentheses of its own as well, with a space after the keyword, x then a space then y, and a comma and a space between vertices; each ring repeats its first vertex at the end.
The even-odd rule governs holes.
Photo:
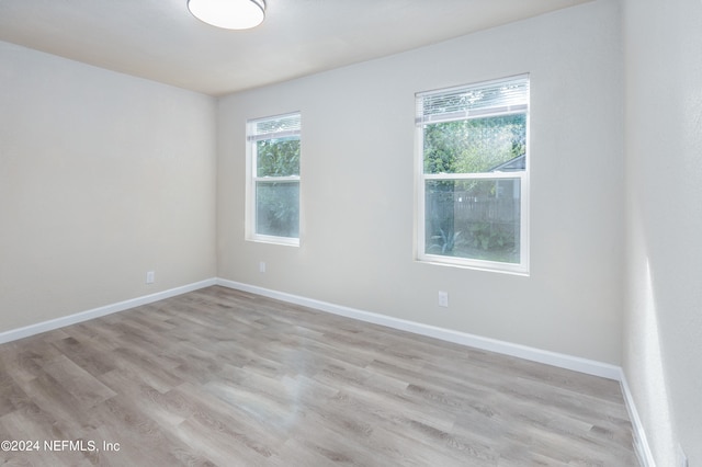
POLYGON ((417 258, 526 273, 529 77, 417 94, 417 258))

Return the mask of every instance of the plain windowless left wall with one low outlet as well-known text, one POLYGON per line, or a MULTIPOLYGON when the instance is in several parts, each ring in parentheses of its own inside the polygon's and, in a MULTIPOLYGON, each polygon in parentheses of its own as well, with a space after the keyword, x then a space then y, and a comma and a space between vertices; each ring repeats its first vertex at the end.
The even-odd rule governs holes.
POLYGON ((0 64, 0 332, 215 275, 214 99, 7 43, 0 64))

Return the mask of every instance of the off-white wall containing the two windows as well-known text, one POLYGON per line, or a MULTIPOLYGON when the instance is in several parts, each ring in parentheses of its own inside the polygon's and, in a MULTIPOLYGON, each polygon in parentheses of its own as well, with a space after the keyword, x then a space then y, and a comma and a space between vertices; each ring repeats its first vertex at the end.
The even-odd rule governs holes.
POLYGON ((218 276, 619 364, 618 5, 588 3, 222 99, 218 276), (523 72, 532 88, 531 275, 415 262, 415 92, 523 72), (301 246, 247 242, 245 123, 291 111, 303 118, 301 246), (440 289, 450 293, 448 310, 437 306, 440 289))

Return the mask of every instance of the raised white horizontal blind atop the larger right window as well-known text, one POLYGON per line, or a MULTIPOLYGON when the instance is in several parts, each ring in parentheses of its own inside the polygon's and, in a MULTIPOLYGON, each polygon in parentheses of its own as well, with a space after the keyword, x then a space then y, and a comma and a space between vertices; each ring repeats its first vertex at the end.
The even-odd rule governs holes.
POLYGON ((417 125, 524 112, 529 106, 529 76, 421 92, 416 105, 417 125))

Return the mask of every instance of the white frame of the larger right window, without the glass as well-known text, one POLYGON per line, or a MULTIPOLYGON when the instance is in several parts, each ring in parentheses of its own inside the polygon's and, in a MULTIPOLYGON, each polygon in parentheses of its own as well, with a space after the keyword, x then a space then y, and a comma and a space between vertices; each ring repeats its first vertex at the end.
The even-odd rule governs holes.
POLYGON ((418 262, 451 265, 458 267, 466 267, 480 271, 512 273, 519 275, 529 275, 530 264, 530 241, 529 241, 529 224, 530 224, 530 91, 531 79, 528 73, 518 75, 513 77, 507 77, 496 80, 479 81, 471 84, 444 88, 433 91, 418 92, 415 95, 416 105, 419 107, 420 99, 428 95, 449 94, 451 92, 461 90, 471 90, 485 88, 490 84, 500 82, 512 82, 518 80, 525 80, 528 86, 526 102, 520 106, 495 106, 487 110, 482 109, 478 111, 466 111, 464 115, 453 115, 446 118, 429 118, 424 119, 417 114, 415 124, 415 162, 416 162, 416 208, 415 208, 415 259, 418 262), (523 171, 505 171, 505 172, 476 172, 476 173, 424 173, 424 127, 428 124, 443 123, 443 122, 456 122, 471 118, 483 118, 488 116, 503 116, 513 114, 525 115, 525 159, 523 171), (427 223, 427 206, 426 206, 426 186, 430 180, 438 181, 462 181, 462 180, 514 180, 518 179, 520 183, 520 262, 509 263, 501 261, 480 260, 473 258, 450 257, 442 254, 433 254, 427 252, 427 238, 426 238, 426 223, 427 223))

